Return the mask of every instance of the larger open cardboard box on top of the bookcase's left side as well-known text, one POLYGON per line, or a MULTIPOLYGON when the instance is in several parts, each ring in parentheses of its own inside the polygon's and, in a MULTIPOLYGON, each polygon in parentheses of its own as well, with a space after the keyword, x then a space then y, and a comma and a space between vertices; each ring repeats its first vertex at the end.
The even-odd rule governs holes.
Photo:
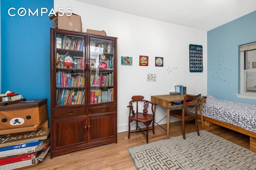
POLYGON ((56 12, 56 16, 50 16, 50 20, 52 21, 52 25, 58 29, 66 29, 70 31, 78 31, 82 32, 82 21, 81 16, 72 13, 71 16, 66 16, 64 13, 63 16, 58 16, 58 12, 56 12))

